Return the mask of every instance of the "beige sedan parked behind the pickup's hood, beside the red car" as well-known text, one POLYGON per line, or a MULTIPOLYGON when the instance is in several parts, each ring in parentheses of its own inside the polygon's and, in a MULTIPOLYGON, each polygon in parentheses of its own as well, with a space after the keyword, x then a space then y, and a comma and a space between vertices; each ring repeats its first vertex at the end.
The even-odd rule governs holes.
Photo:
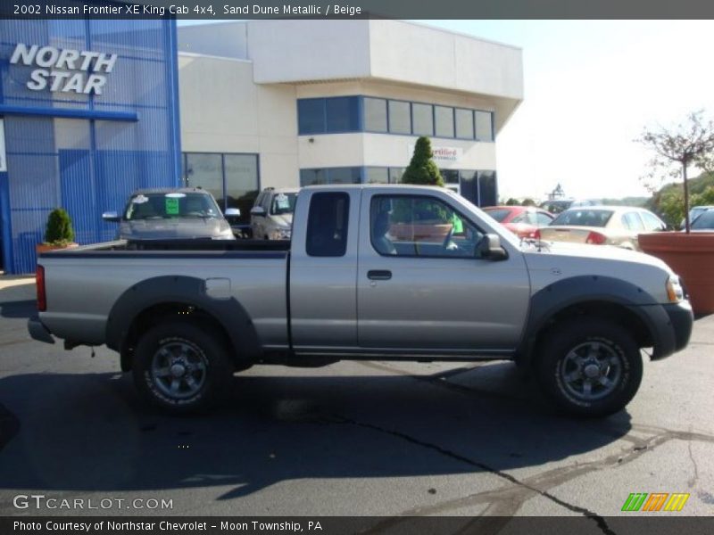
POLYGON ((617 245, 640 250, 637 235, 665 230, 667 225, 651 211, 629 206, 585 206, 565 210, 539 230, 542 240, 617 245))

